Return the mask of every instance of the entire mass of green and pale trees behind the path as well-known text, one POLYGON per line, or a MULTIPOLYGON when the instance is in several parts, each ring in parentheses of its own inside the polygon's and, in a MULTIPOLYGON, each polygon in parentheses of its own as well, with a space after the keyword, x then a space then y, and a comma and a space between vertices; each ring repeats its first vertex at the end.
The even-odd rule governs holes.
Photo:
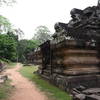
POLYGON ((51 32, 46 26, 39 26, 35 31, 33 39, 20 40, 19 37, 24 35, 24 32, 20 28, 14 29, 7 18, 0 16, 0 59, 27 62, 30 52, 51 39, 51 32))

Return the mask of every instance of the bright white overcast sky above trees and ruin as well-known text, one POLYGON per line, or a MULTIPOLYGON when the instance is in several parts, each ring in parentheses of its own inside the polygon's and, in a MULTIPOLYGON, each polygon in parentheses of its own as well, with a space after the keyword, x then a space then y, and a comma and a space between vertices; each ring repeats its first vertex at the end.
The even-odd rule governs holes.
POLYGON ((31 39, 37 26, 45 25, 54 33, 56 22, 67 23, 72 8, 84 9, 97 5, 98 0, 16 0, 13 7, 1 7, 0 15, 7 17, 14 26, 21 28, 31 39))

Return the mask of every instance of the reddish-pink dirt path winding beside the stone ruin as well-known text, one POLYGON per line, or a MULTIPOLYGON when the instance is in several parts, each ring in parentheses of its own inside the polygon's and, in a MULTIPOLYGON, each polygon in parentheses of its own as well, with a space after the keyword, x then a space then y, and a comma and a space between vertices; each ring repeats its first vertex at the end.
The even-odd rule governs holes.
POLYGON ((15 68, 8 69, 6 72, 16 88, 9 100, 48 100, 33 83, 20 75, 18 72, 20 68, 21 64, 17 64, 15 68))

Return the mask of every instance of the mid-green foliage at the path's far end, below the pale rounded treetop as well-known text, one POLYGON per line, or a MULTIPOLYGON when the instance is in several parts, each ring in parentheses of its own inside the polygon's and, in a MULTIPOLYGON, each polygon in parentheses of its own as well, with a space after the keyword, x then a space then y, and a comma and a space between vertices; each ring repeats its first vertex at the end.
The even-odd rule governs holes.
POLYGON ((27 54, 34 51, 34 48, 38 46, 36 40, 20 40, 18 42, 18 59, 20 62, 27 62, 27 54))

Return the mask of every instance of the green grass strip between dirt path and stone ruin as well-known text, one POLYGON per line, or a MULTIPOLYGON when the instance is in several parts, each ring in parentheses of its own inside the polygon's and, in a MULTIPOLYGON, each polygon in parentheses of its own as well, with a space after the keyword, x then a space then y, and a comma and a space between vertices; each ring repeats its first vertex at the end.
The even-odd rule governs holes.
POLYGON ((72 100, 71 97, 59 88, 51 85, 48 81, 41 79, 40 76, 33 74, 37 70, 37 67, 27 66, 22 67, 20 73, 27 77, 29 80, 36 83, 36 85, 44 91, 49 98, 52 97, 53 100, 72 100))

